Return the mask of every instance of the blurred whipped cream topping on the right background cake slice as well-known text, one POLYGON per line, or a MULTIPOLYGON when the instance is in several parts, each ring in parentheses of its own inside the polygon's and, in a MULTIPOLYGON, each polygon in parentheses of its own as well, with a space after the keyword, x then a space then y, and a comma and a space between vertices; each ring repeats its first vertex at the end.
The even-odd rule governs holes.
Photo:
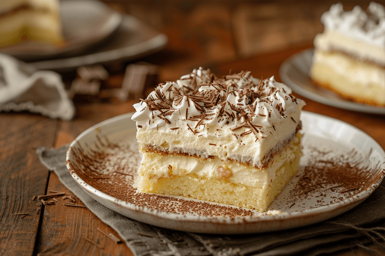
POLYGON ((360 6, 345 12, 341 3, 336 3, 323 13, 321 22, 325 30, 334 30, 355 40, 385 48, 385 8, 371 2, 367 12, 360 6))

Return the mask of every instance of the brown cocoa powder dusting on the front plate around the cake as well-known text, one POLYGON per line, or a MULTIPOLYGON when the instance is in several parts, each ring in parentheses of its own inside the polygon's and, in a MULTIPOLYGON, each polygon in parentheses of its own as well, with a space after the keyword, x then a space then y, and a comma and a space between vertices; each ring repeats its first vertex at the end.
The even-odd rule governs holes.
MULTIPOLYGON (((98 140, 99 145, 93 150, 89 147, 85 150, 81 145, 72 148, 75 161, 70 163, 70 172, 77 173, 88 185, 107 195, 137 206, 178 214, 234 218, 257 212, 180 197, 136 193, 132 183, 142 159, 136 138, 121 144, 98 140), (90 178, 93 176, 108 178, 90 178)), ((305 145, 304 151, 307 163, 301 163, 303 167, 289 182, 290 192, 276 199, 287 207, 276 209, 277 202, 273 202, 268 210, 300 211, 337 203, 367 190, 383 175, 383 171, 379 171, 382 163, 373 166, 369 157, 357 150, 338 153, 305 145), (308 199, 316 203, 303 206, 308 199)))

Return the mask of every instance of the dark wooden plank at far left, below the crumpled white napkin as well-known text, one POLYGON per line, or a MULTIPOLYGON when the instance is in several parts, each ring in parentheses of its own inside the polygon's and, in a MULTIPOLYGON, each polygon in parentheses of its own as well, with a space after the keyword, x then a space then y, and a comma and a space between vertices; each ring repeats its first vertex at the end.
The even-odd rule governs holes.
POLYGON ((28 113, 0 114, 0 248, 2 255, 32 255, 49 171, 35 150, 52 147, 57 121, 28 113), (30 213, 24 218, 13 213, 30 213), (40 212, 39 212, 40 213, 40 212))

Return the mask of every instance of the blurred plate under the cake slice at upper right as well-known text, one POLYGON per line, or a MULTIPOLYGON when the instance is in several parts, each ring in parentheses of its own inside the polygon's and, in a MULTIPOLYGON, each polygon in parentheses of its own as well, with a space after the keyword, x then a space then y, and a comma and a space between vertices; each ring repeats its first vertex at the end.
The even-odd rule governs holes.
POLYGON ((348 101, 333 91, 316 86, 310 79, 309 72, 313 61, 313 49, 301 51, 280 66, 280 78, 283 83, 303 97, 329 106, 358 112, 385 114, 385 107, 375 107, 348 101))

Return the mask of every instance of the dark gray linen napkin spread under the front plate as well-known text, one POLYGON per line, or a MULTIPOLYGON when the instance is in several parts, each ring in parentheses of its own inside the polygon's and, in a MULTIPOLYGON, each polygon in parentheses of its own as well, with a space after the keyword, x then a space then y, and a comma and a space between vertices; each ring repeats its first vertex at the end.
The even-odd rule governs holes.
POLYGON ((75 182, 65 165, 68 145, 36 152, 45 167, 53 170, 60 181, 72 191, 100 220, 111 226, 126 242, 135 256, 231 256, 231 255, 293 255, 315 256, 348 248, 385 241, 385 187, 380 185, 363 203, 352 210, 302 228, 251 235, 206 235, 187 233, 147 225, 116 213, 90 197, 75 182), (151 235, 142 236, 138 233, 151 235))

